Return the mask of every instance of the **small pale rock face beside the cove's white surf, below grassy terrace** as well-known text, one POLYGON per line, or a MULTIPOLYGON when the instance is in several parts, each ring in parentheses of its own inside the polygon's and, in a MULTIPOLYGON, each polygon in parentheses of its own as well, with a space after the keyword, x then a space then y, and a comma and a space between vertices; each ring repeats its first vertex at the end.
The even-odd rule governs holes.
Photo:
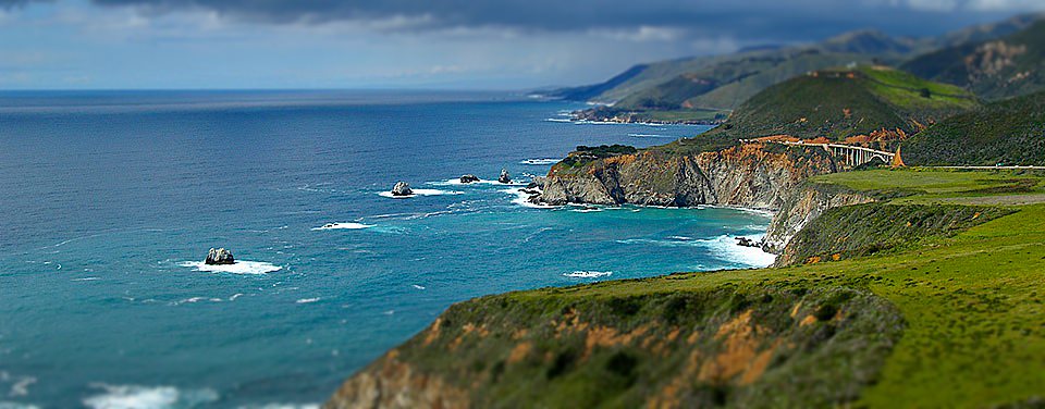
POLYGON ((871 201, 874 199, 858 191, 829 188, 824 185, 806 185, 792 191, 773 218, 770 228, 765 232, 762 249, 778 255, 791 237, 827 209, 871 201))

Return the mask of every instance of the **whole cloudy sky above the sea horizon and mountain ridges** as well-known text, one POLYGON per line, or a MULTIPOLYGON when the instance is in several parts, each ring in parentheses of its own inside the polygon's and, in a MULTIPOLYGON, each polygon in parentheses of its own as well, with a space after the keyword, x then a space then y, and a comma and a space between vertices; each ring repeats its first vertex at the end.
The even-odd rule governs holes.
POLYGON ((0 89, 528 89, 1042 0, 0 0, 0 89))

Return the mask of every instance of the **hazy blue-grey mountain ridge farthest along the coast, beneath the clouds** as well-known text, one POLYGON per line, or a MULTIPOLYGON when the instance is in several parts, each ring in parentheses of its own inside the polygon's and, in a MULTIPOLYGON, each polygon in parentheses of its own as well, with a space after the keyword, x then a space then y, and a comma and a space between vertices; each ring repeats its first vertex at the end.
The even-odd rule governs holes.
POLYGON ((593 119, 704 120, 722 116, 762 89, 809 71, 849 63, 899 63, 942 47, 1010 35, 1040 17, 1021 15, 939 37, 896 38, 876 30, 856 30, 815 45, 761 47, 726 55, 661 61, 632 66, 605 83, 563 88, 549 95, 615 102, 612 108, 592 111, 593 119))

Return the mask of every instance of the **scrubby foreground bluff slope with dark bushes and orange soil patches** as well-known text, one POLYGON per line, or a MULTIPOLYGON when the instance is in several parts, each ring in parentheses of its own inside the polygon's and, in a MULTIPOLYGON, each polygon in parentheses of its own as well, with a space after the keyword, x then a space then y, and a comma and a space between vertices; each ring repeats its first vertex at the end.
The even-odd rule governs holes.
POLYGON ((890 303, 853 283, 634 284, 454 305, 325 407, 845 406, 902 331, 890 303))

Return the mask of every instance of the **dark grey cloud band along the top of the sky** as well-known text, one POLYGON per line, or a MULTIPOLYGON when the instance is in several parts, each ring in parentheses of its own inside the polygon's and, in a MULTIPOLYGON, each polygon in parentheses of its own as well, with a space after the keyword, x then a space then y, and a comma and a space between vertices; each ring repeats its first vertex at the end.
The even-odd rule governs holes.
MULTIPOLYGON (((0 0, 0 7, 28 1, 0 0)), ((93 0, 148 13, 212 11, 257 23, 405 22, 386 29, 493 27, 530 32, 672 28, 686 37, 808 40, 872 27, 901 35, 936 34, 1034 9, 1024 0, 93 0), (992 10, 979 5, 992 4, 992 10)), ((1041 8, 1041 4, 1036 5, 1041 8)))

